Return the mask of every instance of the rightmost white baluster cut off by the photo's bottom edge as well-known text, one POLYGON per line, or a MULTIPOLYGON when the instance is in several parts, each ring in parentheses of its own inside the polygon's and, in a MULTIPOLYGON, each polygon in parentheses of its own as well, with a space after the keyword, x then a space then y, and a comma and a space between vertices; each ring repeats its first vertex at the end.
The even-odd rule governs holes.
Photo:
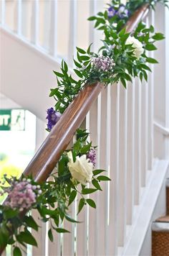
POLYGON ((110 137, 110 211, 107 225, 107 255, 117 255, 119 216, 119 89, 117 84, 110 88, 111 96, 111 137, 110 137))

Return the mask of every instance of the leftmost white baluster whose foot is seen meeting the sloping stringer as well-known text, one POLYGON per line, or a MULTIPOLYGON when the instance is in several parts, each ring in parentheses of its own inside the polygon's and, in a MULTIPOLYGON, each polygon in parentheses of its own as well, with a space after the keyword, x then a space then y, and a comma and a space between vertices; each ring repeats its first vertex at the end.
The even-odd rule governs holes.
POLYGON ((127 91, 120 85, 119 108, 119 216, 118 216, 118 246, 125 243, 126 225, 126 178, 127 178, 127 91))

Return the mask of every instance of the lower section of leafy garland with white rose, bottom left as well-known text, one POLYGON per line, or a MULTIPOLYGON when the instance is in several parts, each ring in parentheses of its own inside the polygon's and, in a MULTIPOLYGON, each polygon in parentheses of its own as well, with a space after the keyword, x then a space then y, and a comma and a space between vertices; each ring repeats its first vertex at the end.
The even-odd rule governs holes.
POLYGON ((85 195, 102 191, 101 180, 110 180, 102 175, 104 170, 95 170, 96 152, 92 143, 87 142, 88 133, 77 130, 77 142, 72 150, 65 151, 59 159, 56 172, 50 175, 49 180, 37 183, 32 177, 18 180, 4 175, 1 183, 1 196, 8 194, 8 200, 0 206, 0 247, 14 244, 14 255, 21 255, 26 244, 37 246, 37 241, 29 228, 38 232, 39 226, 31 215, 36 209, 42 221, 50 223, 49 239, 53 242, 53 232, 69 232, 62 227, 64 219, 78 223, 69 216, 69 206, 79 195, 78 211, 85 204, 96 208, 95 201, 85 198, 85 195), (87 187, 92 183, 92 187, 87 187), (22 213, 29 211, 24 216, 22 213), (53 220, 53 221, 52 221, 53 220), (20 246, 18 246, 20 244, 20 246))

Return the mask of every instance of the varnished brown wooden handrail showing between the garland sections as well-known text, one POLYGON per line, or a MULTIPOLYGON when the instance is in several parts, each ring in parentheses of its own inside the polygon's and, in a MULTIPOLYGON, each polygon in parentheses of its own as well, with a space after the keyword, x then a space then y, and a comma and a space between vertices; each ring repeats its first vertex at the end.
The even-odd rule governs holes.
MULTIPOLYGON (((126 31, 132 32, 137 24, 148 14, 149 6, 145 4, 141 6, 135 14, 130 17, 126 24, 126 31)), ((72 140, 74 132, 84 120, 87 112, 90 110, 93 102, 102 91, 104 85, 102 83, 94 83, 85 86, 76 99, 64 111, 59 122, 49 132, 48 137, 34 155, 32 161, 24 170, 24 175, 32 175, 33 178, 42 182, 47 180, 49 174, 56 166, 62 152, 67 148, 72 140)), ((6 199, 7 200, 7 199, 6 199)), ((0 255, 5 247, 0 248, 0 255)))

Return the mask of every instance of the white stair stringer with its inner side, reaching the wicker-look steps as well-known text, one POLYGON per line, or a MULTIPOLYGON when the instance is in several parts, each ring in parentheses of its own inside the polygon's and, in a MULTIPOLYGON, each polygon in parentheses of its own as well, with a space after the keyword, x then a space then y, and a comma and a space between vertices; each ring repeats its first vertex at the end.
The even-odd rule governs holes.
POLYGON ((151 256, 152 221, 165 214, 165 180, 168 177, 168 160, 156 160, 150 170, 148 183, 137 206, 135 221, 130 227, 125 247, 120 255, 151 256))

